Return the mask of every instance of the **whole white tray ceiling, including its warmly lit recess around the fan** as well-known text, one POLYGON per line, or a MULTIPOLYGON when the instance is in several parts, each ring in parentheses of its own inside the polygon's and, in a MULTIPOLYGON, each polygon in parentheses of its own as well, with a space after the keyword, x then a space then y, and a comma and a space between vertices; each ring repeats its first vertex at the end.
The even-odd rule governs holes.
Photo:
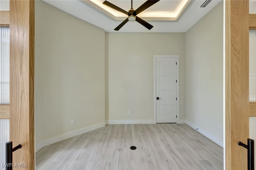
MULTIPOLYGON (((127 16, 115 10, 104 9, 92 2, 93 0, 44 0, 77 18, 104 29, 106 32, 117 32, 118 26, 127 16)), ((97 3, 104 0, 97 0, 97 3)), ((131 8, 130 0, 108 0, 124 10, 131 8)), ((118 32, 186 32, 221 0, 212 0, 205 8, 200 6, 205 0, 160 0, 153 6, 138 14, 154 27, 148 30, 138 22, 127 22, 118 32), (184 5, 185 4, 185 5, 184 5), (184 6, 183 6, 184 5, 184 6), (183 7, 182 7, 183 6, 183 7), (179 16, 176 9, 182 9, 179 16), (173 15, 172 15, 173 14, 173 15)), ((146 0, 134 0, 133 8, 138 8, 146 0)), ((107 6, 106 6, 107 7, 107 6)), ((107 7, 109 8, 109 7, 107 7)))

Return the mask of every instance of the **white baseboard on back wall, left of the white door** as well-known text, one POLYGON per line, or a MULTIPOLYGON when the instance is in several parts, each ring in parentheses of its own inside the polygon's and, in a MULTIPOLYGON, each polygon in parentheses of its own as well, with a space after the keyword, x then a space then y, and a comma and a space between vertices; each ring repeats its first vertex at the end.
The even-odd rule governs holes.
POLYGON ((106 124, 156 124, 154 119, 106 120, 106 124))

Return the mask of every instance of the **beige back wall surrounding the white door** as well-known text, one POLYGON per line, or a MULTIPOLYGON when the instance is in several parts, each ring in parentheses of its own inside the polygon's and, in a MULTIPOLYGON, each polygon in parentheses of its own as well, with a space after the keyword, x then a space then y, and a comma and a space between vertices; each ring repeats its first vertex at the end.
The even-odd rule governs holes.
POLYGON ((106 34, 106 120, 153 120, 153 56, 164 54, 180 55, 180 119, 185 119, 185 33, 106 34))

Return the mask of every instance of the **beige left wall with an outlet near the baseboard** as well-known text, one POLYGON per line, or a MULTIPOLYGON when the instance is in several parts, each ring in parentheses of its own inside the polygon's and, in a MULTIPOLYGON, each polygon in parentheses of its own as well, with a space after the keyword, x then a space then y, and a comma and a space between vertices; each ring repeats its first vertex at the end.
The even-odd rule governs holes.
POLYGON ((105 32, 45 2, 35 8, 38 144, 105 121, 105 32))

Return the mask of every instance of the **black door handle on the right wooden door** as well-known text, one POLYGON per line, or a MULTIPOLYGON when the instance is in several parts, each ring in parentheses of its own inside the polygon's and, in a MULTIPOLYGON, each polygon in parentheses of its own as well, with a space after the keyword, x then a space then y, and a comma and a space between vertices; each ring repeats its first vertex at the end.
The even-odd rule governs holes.
POLYGON ((247 169, 254 170, 254 140, 247 139, 247 145, 239 141, 238 145, 247 149, 247 169))

